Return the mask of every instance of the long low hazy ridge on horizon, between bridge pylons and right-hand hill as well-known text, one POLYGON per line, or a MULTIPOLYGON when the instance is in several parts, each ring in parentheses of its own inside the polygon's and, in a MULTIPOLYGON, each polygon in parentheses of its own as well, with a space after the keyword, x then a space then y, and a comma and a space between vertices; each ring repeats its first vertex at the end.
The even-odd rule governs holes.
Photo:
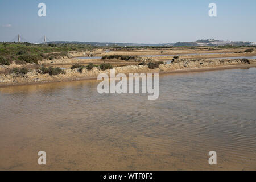
POLYGON ((48 44, 87 44, 92 46, 173 46, 174 43, 167 44, 136 44, 136 43, 113 43, 113 42, 77 42, 77 41, 51 41, 48 44))

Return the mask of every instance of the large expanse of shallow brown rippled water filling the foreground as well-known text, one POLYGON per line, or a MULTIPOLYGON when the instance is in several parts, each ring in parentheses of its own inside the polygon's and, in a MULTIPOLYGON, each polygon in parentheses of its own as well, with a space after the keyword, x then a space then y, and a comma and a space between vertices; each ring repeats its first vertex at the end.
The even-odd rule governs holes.
POLYGON ((255 77, 256 68, 162 75, 158 100, 101 95, 97 81, 0 88, 0 169, 255 170, 255 77))

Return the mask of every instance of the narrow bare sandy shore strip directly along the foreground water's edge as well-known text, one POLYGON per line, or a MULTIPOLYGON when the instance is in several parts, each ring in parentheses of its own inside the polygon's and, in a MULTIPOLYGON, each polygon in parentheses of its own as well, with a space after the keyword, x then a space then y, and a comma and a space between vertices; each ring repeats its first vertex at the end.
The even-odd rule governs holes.
MULTIPOLYGON (((183 64, 183 62, 182 62, 183 64)), ((170 65, 170 64, 168 64, 170 65)), ((209 66, 209 67, 200 67, 200 68, 180 68, 180 69, 170 69, 168 68, 167 64, 160 65, 160 68, 157 69, 148 69, 147 66, 141 66, 141 65, 131 65, 126 67, 117 67, 115 68, 117 71, 116 73, 125 73, 128 75, 129 73, 159 73, 160 75, 163 74, 173 74, 173 73, 189 73, 189 72, 205 72, 205 71, 217 71, 217 70, 223 70, 223 69, 241 69, 241 68, 253 68, 256 67, 256 60, 253 61, 252 64, 245 64, 240 63, 236 65, 227 64, 227 65, 218 65, 218 66, 209 66), (127 68, 128 67, 128 68, 127 68), (164 69, 164 67, 167 67, 164 69)), ((195 65, 192 65, 195 66, 195 65)), ((179 65, 175 66, 176 68, 179 68, 179 65)), ((20 85, 34 85, 34 84, 47 84, 52 82, 68 82, 68 81, 81 81, 81 80, 97 80, 97 76, 100 73, 107 73, 108 71, 96 71, 97 68, 94 68, 92 73, 86 74, 85 76, 77 76, 75 73, 72 73, 73 77, 61 77, 61 76, 51 76, 51 79, 46 79, 42 81, 24 81, 24 82, 1 82, 0 88, 8 87, 8 86, 20 86, 20 85)), ((88 71, 86 71, 88 72, 88 71)), ((1 78, 1 77, 0 77, 1 78)))

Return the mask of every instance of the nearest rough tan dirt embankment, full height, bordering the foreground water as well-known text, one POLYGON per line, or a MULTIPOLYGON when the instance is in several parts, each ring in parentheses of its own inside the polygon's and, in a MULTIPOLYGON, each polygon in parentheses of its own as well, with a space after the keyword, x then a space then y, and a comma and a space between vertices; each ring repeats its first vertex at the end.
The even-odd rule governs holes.
MULTIPOLYGON (((256 60, 205 60, 205 59, 174 59, 173 63, 161 64, 159 68, 150 69, 147 65, 128 65, 124 67, 115 67, 115 73, 171 73, 171 72, 191 72, 207 71, 211 69, 243 68, 256 67, 256 60)), ((0 74, 0 86, 36 84, 42 82, 71 81, 82 79, 97 78, 100 73, 109 73, 109 69, 102 71, 99 67, 94 67, 88 71, 86 68, 79 72, 77 69, 65 69, 65 73, 50 76, 41 74, 36 69, 28 72, 26 75, 16 73, 0 74)))

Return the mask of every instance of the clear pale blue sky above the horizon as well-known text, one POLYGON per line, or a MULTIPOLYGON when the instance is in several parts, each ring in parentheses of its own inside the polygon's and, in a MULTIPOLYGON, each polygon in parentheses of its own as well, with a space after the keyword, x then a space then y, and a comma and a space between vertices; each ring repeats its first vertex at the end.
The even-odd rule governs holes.
POLYGON ((256 41, 255 0, 0 0, 0 41, 256 41), (46 3, 46 17, 38 4, 46 3), (216 3, 217 17, 208 15, 216 3))

